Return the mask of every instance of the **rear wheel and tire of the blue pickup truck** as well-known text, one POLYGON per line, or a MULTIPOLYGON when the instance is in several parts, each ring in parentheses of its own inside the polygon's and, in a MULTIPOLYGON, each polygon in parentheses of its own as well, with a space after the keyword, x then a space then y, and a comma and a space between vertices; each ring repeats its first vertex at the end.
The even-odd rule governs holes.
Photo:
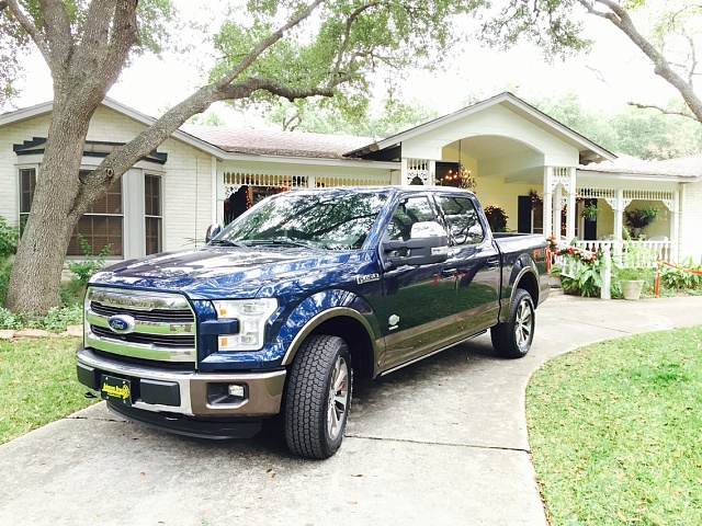
POLYGON ((490 329, 492 347, 505 358, 526 356, 534 340, 535 327, 534 301, 526 290, 518 288, 510 306, 508 321, 490 329))

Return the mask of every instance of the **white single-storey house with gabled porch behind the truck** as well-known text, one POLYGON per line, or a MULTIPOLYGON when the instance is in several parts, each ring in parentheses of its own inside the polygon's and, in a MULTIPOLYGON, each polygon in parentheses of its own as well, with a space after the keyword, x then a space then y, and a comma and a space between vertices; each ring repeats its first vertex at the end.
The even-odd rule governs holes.
MULTIPOLYGON (((0 215, 22 222, 42 163, 52 103, 0 115, 0 215)), ((105 99, 83 150, 90 170, 154 119, 105 99)), ((631 161, 631 160, 627 160, 631 161)), ((507 228, 577 237, 588 248, 621 240, 624 213, 655 207, 646 228, 670 260, 702 247, 702 162, 624 162, 511 93, 396 136, 359 137, 185 125, 139 161, 78 226, 93 250, 131 259, 202 243, 258 199, 295 187, 443 184, 474 191, 507 228), (599 209, 586 221, 586 205, 599 209)), ((69 256, 82 251, 73 237, 69 256)))

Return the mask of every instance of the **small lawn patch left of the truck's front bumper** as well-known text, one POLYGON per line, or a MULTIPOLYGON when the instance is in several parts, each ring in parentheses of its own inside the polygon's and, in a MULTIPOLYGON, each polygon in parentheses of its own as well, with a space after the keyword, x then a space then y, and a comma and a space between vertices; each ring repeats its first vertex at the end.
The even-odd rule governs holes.
POLYGON ((78 342, 0 341, 0 444, 94 402, 76 379, 78 342))

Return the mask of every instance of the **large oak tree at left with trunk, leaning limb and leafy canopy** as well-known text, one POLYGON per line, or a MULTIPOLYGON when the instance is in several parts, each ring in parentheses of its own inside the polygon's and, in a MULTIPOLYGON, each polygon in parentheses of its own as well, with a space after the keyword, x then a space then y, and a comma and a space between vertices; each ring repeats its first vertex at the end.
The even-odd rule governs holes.
MULTIPOLYGON (((133 164, 216 101, 335 98, 363 105, 377 67, 432 66, 454 43, 451 21, 483 0, 249 0, 220 13, 220 59, 207 82, 129 142, 80 175, 90 119, 131 57, 159 42, 168 0, 0 0, 0 58, 42 54, 54 106, 31 214, 12 268, 7 307, 59 305, 64 258, 80 217, 133 164)), ((16 60, 2 62, 5 92, 16 60)))

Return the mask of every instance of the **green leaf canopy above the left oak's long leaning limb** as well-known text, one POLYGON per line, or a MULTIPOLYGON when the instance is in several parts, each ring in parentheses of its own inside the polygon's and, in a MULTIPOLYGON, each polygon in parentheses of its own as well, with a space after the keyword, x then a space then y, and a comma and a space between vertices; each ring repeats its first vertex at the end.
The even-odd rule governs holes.
MULTIPOLYGON (((293 88, 335 88, 335 104, 349 115, 367 105, 369 73, 408 66, 433 67, 455 39, 464 36, 452 22, 482 0, 324 2, 307 20, 265 49, 237 79, 263 77, 293 88), (341 85, 343 84, 343 88, 341 85)), ((235 12, 215 37, 222 59, 211 81, 237 67, 275 27, 298 13, 303 2, 249 1, 246 13, 235 12)), ((257 92, 247 101, 272 102, 257 92)))

